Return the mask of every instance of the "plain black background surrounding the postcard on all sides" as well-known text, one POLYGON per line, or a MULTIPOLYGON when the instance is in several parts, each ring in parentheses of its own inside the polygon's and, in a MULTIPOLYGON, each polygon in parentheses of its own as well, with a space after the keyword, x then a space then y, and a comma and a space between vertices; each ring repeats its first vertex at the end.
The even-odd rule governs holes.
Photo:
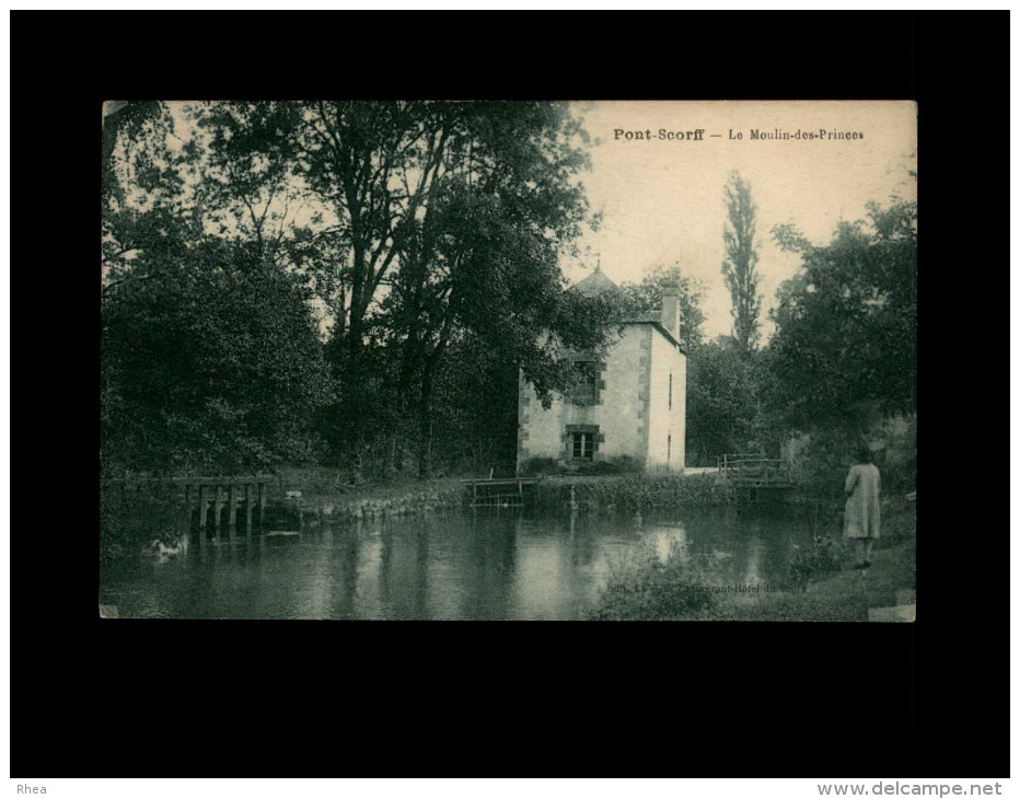
POLYGON ((1001 777, 1007 13, 11 15, 11 776, 1001 777), (101 621, 100 103, 918 101, 914 625, 101 621))

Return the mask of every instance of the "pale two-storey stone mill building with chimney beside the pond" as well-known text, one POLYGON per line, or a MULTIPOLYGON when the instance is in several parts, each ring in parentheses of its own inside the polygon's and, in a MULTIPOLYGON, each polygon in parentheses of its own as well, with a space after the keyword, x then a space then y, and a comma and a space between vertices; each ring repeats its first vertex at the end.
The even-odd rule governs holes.
MULTIPOLYGON (((601 270, 571 291, 617 291, 601 270)), ((533 458, 561 465, 626 455, 648 472, 682 472, 687 356, 680 346, 680 296, 663 287, 662 310, 628 320, 601 359, 573 356, 575 382, 545 409, 520 379, 518 470, 533 458)))

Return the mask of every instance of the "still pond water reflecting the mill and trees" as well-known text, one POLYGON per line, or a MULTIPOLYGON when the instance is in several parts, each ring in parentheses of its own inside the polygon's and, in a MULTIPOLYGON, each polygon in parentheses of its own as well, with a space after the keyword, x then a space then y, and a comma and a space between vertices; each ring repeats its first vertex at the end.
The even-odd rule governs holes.
POLYGON ((711 555, 734 584, 783 583, 813 519, 790 506, 629 513, 513 509, 327 525, 283 545, 239 535, 185 556, 106 566, 120 617, 575 619, 614 564, 673 547, 711 555))

